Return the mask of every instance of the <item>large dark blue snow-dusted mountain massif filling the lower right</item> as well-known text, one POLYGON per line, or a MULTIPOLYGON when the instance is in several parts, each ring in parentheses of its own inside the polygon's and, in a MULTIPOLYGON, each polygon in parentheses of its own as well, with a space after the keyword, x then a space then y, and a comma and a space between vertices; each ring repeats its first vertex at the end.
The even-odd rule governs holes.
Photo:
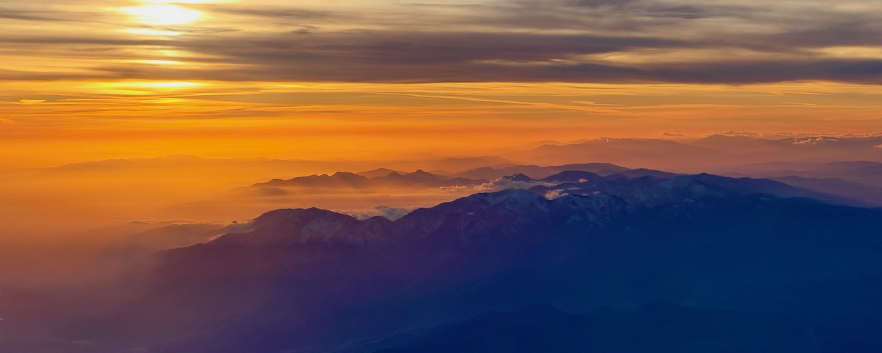
POLYGON ((490 320, 481 337, 413 346, 400 334, 548 303, 637 312, 618 316, 631 326, 582 326, 582 315, 527 310, 522 320, 592 332, 567 340, 527 325, 519 342, 534 345, 520 351, 552 342, 564 352, 603 342, 632 350, 598 351, 882 349, 872 329, 882 315, 882 211, 758 193, 795 190, 761 180, 581 179, 547 187, 585 194, 479 193, 396 221, 273 211, 248 232, 163 252, 141 297, 67 334, 157 352, 507 351, 517 315, 490 320), (578 340, 592 334, 598 342, 578 340))

